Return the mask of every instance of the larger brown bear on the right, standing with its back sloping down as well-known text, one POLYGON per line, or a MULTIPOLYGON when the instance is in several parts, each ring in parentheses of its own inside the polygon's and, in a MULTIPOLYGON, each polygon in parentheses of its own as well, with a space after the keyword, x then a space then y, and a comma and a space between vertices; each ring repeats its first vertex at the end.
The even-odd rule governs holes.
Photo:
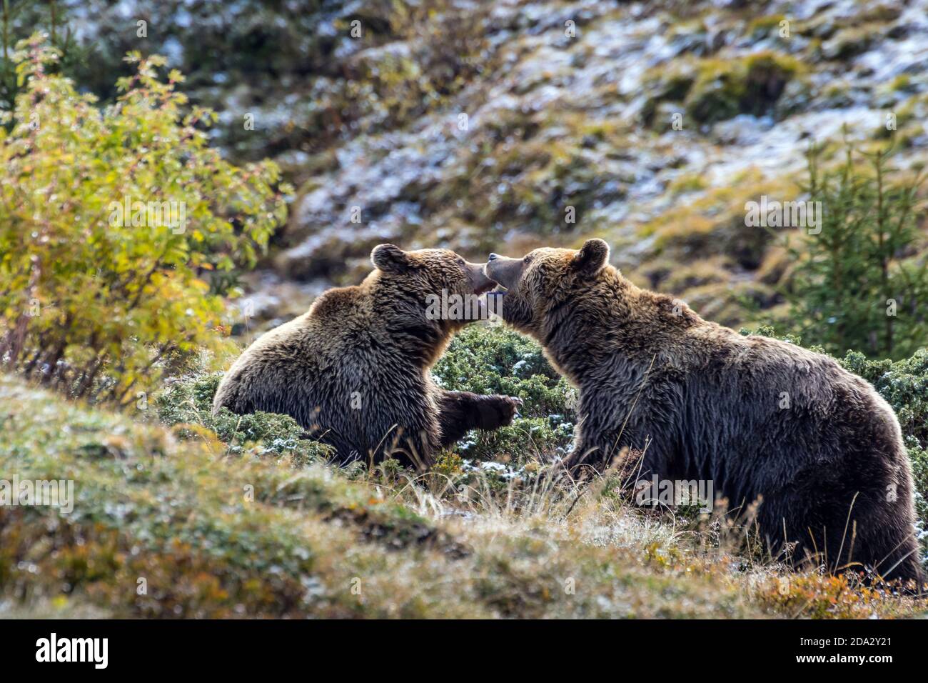
POLYGON ((491 254, 486 273, 504 292, 503 320, 579 390, 574 471, 601 471, 627 447, 639 482, 705 480, 729 510, 757 504, 774 557, 919 578, 909 458, 870 384, 639 289, 602 240, 491 254))

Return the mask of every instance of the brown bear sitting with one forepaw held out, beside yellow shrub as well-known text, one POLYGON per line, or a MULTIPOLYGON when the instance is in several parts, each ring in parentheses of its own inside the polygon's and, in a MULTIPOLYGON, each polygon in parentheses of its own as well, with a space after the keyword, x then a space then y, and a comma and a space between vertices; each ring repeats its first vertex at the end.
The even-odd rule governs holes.
POLYGON ((429 373, 470 322, 461 306, 443 316, 430 302, 477 300, 495 285, 483 264, 393 244, 377 246, 371 261, 364 282, 329 290, 251 344, 220 383, 213 412, 289 414, 342 461, 390 456, 419 468, 470 429, 508 425, 518 399, 445 391, 429 373))

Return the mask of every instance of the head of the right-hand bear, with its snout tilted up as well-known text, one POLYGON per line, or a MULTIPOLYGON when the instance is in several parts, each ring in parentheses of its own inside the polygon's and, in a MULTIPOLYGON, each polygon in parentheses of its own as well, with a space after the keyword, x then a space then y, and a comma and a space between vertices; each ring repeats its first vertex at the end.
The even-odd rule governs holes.
POLYGON ((594 239, 579 250, 543 247, 522 258, 491 254, 484 270, 503 291, 503 320, 543 340, 552 316, 608 278, 608 266, 609 244, 594 239))

